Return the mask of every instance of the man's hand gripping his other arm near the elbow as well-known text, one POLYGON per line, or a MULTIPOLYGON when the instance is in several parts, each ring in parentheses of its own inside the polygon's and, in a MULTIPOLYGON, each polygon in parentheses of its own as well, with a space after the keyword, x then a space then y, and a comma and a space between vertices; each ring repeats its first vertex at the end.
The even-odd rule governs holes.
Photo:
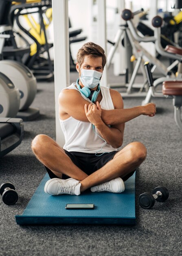
POLYGON ((91 124, 93 124, 94 126, 97 126, 99 123, 103 122, 101 119, 101 113, 102 113, 101 105, 99 104, 98 101, 96 102, 96 105, 90 103, 87 106, 87 104, 85 104, 84 108, 85 108, 86 117, 88 118, 91 124))

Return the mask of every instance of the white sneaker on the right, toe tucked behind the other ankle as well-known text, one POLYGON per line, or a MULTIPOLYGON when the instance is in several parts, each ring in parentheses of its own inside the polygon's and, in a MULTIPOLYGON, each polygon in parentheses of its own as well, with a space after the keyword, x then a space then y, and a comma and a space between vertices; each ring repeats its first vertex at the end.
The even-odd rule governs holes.
POLYGON ((120 177, 110 180, 108 182, 105 182, 103 184, 93 186, 91 188, 92 192, 107 191, 107 192, 113 192, 113 193, 121 193, 124 190, 125 190, 125 184, 120 177))

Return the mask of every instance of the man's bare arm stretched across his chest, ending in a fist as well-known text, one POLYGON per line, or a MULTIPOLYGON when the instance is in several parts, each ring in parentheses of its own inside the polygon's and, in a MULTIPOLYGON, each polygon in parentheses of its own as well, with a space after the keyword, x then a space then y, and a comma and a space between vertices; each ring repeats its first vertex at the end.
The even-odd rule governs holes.
MULTIPOLYGON (((64 115, 89 122, 84 110, 85 104, 90 102, 84 99, 77 90, 64 90, 59 94, 59 116, 64 119, 64 115)), ((101 118, 106 125, 124 124, 140 115, 155 115, 155 104, 149 103, 145 106, 137 106, 129 109, 102 110, 101 118)))

